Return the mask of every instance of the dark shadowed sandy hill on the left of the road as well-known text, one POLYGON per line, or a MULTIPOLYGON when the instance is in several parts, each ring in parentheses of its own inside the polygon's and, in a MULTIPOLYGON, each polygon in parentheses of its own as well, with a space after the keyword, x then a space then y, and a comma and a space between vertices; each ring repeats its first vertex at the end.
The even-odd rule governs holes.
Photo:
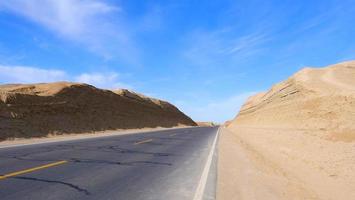
POLYGON ((168 102, 58 82, 0 85, 0 140, 112 129, 195 126, 168 102))

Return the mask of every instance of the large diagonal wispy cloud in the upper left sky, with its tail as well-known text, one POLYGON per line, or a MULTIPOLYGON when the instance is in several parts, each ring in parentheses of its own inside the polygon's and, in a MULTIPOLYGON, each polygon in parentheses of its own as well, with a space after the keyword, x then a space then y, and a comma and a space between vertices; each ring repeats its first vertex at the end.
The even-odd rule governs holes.
POLYGON ((129 28, 119 17, 122 9, 104 1, 7 0, 0 1, 0 10, 23 16, 106 59, 138 59, 129 28))

